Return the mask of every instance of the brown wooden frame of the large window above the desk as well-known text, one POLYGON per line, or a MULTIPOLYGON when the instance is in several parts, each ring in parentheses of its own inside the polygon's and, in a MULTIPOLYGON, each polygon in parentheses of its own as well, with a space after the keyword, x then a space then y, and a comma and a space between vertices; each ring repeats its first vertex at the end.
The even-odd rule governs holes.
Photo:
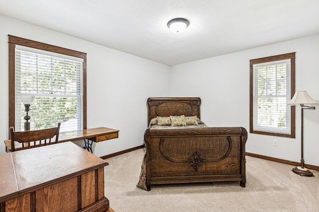
POLYGON ((8 35, 9 44, 9 126, 15 127, 15 45, 27 46, 83 59, 83 129, 87 128, 86 53, 8 35))

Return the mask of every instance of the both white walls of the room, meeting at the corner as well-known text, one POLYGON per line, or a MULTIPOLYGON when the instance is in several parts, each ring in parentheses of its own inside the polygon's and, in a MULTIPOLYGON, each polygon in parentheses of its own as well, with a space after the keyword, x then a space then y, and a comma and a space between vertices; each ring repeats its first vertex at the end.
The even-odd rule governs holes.
MULTIPOLYGON (((120 130, 119 138, 93 145, 97 156, 143 144, 149 97, 200 97, 207 125, 249 131, 250 59, 296 52, 296 91, 319 101, 319 35, 168 67, 1 15, 0 26, 0 154, 8 138, 8 34, 87 53, 87 126, 120 130), (155 79, 167 86, 158 89, 155 79)), ((295 139, 249 133, 246 151, 298 162, 300 116, 297 106, 295 139)), ((319 106, 305 110, 304 119, 304 158, 319 166, 319 106)))

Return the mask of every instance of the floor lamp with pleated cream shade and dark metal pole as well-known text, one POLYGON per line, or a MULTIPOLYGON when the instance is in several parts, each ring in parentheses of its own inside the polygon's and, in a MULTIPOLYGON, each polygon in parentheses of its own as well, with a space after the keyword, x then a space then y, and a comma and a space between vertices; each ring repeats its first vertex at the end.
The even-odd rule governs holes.
POLYGON ((293 168, 293 172, 301 176, 312 177, 314 174, 304 167, 304 109, 315 109, 315 106, 306 105, 319 105, 318 102, 313 100, 307 93, 307 91, 298 91, 295 93, 293 99, 288 103, 289 106, 301 106, 301 166, 293 168))

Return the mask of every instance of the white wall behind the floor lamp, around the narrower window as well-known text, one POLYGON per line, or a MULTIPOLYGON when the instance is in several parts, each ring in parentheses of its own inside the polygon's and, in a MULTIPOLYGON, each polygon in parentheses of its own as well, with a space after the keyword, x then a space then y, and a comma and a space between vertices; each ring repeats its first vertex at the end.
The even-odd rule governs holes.
MULTIPOLYGON (((249 60, 296 52, 296 91, 319 101, 319 35, 180 64, 171 68, 171 96, 200 97, 201 119, 209 126, 242 126, 249 132, 249 60)), ((246 151, 299 162, 301 108, 296 138, 248 133, 246 151), (273 146, 278 140, 278 146, 273 146)), ((319 106, 304 110, 304 159, 319 166, 319 106)))

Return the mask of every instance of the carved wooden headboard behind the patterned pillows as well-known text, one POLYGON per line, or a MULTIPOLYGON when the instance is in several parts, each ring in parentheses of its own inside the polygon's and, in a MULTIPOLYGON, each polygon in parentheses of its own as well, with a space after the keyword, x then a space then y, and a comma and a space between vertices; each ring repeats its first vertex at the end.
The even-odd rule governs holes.
POLYGON ((147 101, 148 123, 157 116, 167 117, 170 115, 196 115, 200 119, 200 104, 199 97, 149 98, 147 101))

